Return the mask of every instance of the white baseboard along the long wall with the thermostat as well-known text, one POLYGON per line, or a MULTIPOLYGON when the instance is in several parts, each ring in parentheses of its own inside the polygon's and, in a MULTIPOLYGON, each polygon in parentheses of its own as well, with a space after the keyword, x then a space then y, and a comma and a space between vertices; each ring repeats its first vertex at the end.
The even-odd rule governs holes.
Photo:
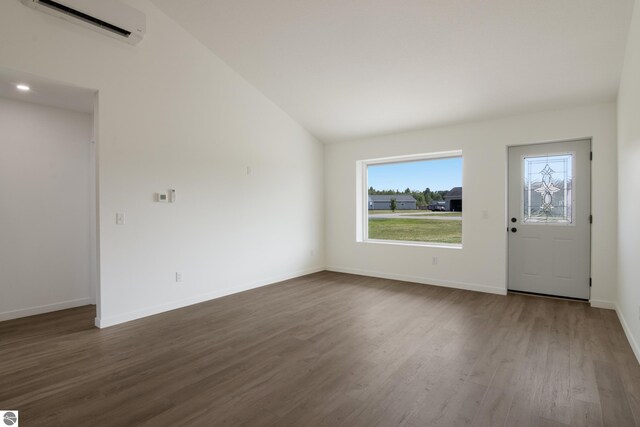
POLYGON ((120 323, 129 322, 131 320, 141 319, 147 316, 153 316, 154 314, 164 313, 166 311, 176 310, 178 308, 187 307, 193 304, 199 304, 201 302, 209 301, 216 298, 221 298, 227 295, 237 294, 238 292, 248 291, 250 289, 260 288, 262 286, 272 285, 274 283, 282 282, 284 280, 294 279, 300 276, 306 276, 307 274, 317 273, 324 271, 324 267, 316 267, 307 270, 298 271, 295 273, 283 274, 281 276, 272 277, 270 279, 261 280, 258 282, 249 283, 242 286, 235 286, 232 288, 225 288, 216 290, 214 292, 208 292, 206 294, 197 295, 189 298, 185 298, 179 301, 172 301, 167 304, 161 304, 153 307, 147 307, 128 313, 117 314, 109 317, 96 317, 95 325, 98 328, 108 328, 109 326, 115 326, 120 323))

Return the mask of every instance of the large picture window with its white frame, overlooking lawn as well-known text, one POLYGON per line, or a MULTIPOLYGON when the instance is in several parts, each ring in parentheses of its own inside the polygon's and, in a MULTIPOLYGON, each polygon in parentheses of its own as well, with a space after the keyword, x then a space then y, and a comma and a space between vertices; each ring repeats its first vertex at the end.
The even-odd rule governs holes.
POLYGON ((367 160, 360 241, 462 245, 462 152, 367 160))

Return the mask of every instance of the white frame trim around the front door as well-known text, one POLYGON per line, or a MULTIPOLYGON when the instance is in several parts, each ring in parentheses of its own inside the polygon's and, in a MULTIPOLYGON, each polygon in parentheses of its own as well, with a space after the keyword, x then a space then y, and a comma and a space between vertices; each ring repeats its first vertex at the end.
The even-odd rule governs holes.
MULTIPOLYGON (((562 143, 562 142, 574 142, 574 141, 589 141, 589 151, 592 153, 589 161, 589 215, 593 215, 593 136, 583 136, 576 138, 565 138, 565 139, 551 139, 545 141, 534 141, 534 142, 521 142, 515 144, 507 144, 504 150, 505 156, 505 164, 506 167, 504 169, 504 243, 505 243, 505 266, 504 266, 504 283, 505 283, 505 291, 509 292, 518 292, 520 291, 511 291, 509 289, 509 149, 511 147, 522 147, 526 145, 543 145, 543 144, 554 144, 554 143, 562 143)), ((589 278, 592 277, 592 269, 593 269, 593 221, 589 224, 589 278)), ((578 301, 590 301, 591 300, 591 280, 589 280, 589 298, 587 300, 578 299, 578 301)), ((529 293, 531 294, 531 293, 529 293)), ((541 294, 538 294, 541 295, 541 294)), ((546 295, 545 295, 546 296, 546 295)), ((555 298, 567 298, 567 297, 559 297, 559 296, 551 296, 555 298)))

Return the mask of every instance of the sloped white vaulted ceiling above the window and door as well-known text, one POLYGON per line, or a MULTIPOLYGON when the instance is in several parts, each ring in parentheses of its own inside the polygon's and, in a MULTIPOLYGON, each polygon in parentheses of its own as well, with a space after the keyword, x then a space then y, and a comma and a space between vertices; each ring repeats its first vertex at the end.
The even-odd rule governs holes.
POLYGON ((324 142, 614 100, 633 0, 152 0, 324 142))

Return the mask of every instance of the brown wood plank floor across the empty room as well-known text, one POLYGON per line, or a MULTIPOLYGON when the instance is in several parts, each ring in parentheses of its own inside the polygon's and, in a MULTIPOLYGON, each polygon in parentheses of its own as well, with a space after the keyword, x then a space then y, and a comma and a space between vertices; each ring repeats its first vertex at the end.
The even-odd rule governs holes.
POLYGON ((615 313, 322 272, 104 330, 0 323, 24 425, 635 426, 615 313))

